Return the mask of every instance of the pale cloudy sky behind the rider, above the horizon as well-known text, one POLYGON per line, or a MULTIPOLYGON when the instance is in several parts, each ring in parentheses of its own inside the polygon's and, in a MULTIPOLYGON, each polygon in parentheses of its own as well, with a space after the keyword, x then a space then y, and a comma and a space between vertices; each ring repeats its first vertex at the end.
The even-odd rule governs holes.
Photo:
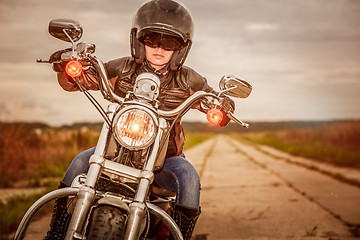
MULTIPOLYGON (((216 90, 226 73, 252 85, 247 99, 235 99, 239 118, 250 123, 360 118, 360 1, 181 2, 195 25, 185 65, 216 90)), ((0 120, 101 121, 82 93, 62 90, 51 65, 35 60, 70 46, 48 34, 56 18, 78 20, 81 41, 94 43, 102 61, 129 56, 131 23, 142 3, 0 0, 0 120)), ((184 119, 205 121, 205 116, 192 110, 184 119)))

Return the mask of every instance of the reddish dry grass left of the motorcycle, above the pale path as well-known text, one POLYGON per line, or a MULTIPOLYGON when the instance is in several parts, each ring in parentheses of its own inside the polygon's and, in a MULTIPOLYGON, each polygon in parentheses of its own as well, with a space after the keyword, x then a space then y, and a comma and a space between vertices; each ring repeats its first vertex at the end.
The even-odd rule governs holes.
POLYGON ((0 187, 62 176, 76 154, 96 144, 97 136, 92 131, 40 132, 0 123, 0 187))

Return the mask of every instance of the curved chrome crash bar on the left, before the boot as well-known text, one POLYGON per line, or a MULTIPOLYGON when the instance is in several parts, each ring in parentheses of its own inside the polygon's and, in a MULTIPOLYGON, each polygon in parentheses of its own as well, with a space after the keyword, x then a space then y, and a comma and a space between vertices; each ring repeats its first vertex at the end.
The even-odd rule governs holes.
POLYGON ((49 192, 42 196, 39 200, 37 200, 25 213, 24 217, 22 218, 19 227, 15 233, 14 240, 23 239, 26 233, 26 230, 33 219, 33 217, 36 215, 36 213, 48 202, 61 198, 61 197, 69 197, 69 196, 76 196, 76 194, 79 192, 78 188, 68 187, 68 188, 61 188, 54 190, 52 192, 49 192))

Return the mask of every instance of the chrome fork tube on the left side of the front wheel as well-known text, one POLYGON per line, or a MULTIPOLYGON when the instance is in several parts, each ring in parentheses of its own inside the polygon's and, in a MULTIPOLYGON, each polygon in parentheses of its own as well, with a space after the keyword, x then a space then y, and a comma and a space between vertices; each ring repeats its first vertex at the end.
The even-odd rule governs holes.
MULTIPOLYGON (((111 109, 109 110, 109 118, 112 119, 114 111, 111 111, 111 109)), ((101 169, 104 164, 104 161, 102 160, 104 159, 103 156, 105 154, 106 140, 110 131, 111 129, 109 126, 106 122, 104 122, 98 143, 95 148, 95 153, 92 156, 92 158, 95 157, 97 161, 90 161, 91 163, 87 173, 86 181, 84 186, 80 188, 77 195, 77 202, 75 204, 65 240, 84 239, 83 230, 90 212, 90 208, 93 205, 95 199, 95 184, 99 178, 101 169)))

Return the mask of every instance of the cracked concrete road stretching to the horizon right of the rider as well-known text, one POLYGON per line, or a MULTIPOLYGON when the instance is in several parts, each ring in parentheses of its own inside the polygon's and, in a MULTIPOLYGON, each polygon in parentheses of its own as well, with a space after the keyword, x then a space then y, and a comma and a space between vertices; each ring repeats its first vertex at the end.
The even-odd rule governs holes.
POLYGON ((202 173, 199 239, 358 239, 358 187, 224 136, 185 154, 202 173))

